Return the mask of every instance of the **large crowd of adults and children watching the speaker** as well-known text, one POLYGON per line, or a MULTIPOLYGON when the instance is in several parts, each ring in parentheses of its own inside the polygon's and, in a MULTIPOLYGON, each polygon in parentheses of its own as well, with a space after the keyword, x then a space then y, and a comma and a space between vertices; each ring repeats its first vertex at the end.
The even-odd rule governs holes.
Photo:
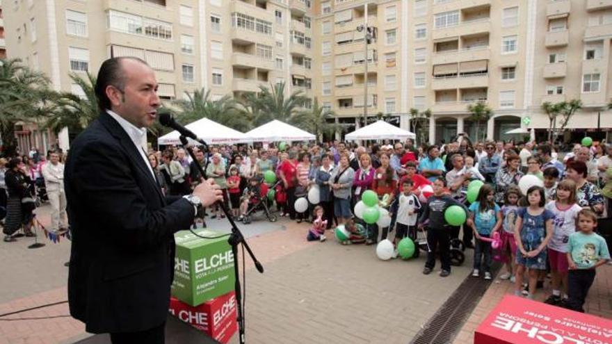
MULTIPOLYGON (((268 207, 275 206, 280 216, 311 223, 308 240, 323 241, 326 230, 344 225, 350 234, 344 244, 372 245, 395 232, 392 240, 397 246, 405 237, 416 240, 421 231, 426 233, 429 251, 426 275, 433 272, 437 256, 440 276, 450 275, 449 243, 462 234, 463 245, 474 249, 473 277, 492 279, 490 268, 496 259, 506 265, 500 279, 515 283, 517 295, 533 298, 550 272, 551 295, 546 302, 581 311, 595 268, 609 259, 605 240, 592 233, 599 219, 612 216, 612 145, 575 145, 560 156, 547 142, 473 143, 460 135, 445 145, 419 147, 408 139, 367 146, 282 142, 265 147, 215 146, 209 152, 193 147, 193 151, 195 160, 181 147, 150 149, 148 159, 164 193, 188 195, 204 178, 211 178, 223 190, 230 216, 236 220, 242 220, 257 197, 268 207), (275 181, 264 177, 266 172, 272 172, 275 181), (519 184, 525 175, 537 177, 543 187, 532 186, 524 194, 519 184), (476 200, 469 202, 466 195, 472 181, 484 185, 476 200), (319 202, 309 202, 307 211, 296 211, 296 200, 308 199, 312 189, 319 202), (380 228, 355 217, 355 204, 366 190, 373 190, 380 206, 388 210, 389 226, 380 228), (469 214, 462 227, 446 223, 444 211, 451 205, 469 214), (499 238, 499 248, 492 249, 492 238, 499 238)), ((49 151, 46 158, 29 154, 0 159, 0 206, 7 209, 5 241, 14 240, 13 233, 21 226, 26 236, 33 235, 33 207, 26 206, 24 199, 37 195, 37 184, 45 185, 51 195, 53 229, 66 230, 60 160, 56 151, 49 151)), ((201 225, 225 217, 218 206, 198 215, 201 225)), ((417 247, 415 256, 418 253, 417 247)))

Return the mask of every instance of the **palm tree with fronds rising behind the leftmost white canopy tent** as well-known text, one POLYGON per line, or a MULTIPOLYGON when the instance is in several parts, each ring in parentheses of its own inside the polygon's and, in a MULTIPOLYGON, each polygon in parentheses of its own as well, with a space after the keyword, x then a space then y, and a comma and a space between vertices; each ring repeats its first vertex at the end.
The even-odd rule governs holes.
POLYGON ((193 94, 185 93, 187 99, 173 102, 179 108, 177 111, 179 123, 189 124, 205 117, 239 131, 249 129, 250 121, 236 108, 236 102, 229 95, 218 100, 211 100, 211 90, 207 91, 204 88, 195 90, 193 94))

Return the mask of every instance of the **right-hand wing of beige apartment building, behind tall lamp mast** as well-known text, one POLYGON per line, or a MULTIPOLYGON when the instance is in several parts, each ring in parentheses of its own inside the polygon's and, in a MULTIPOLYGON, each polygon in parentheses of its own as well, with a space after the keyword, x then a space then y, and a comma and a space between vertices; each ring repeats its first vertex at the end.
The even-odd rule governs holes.
POLYGON ((429 109, 431 142, 463 131, 474 137, 467 106, 476 101, 494 111, 480 129, 488 138, 513 138, 505 133, 519 126, 544 135, 543 101, 583 101, 568 129, 596 128, 598 117, 612 128, 612 1, 321 0, 315 13, 316 94, 340 122, 362 124, 357 28, 367 21, 376 33, 367 48, 367 112, 409 129, 410 108, 429 109))

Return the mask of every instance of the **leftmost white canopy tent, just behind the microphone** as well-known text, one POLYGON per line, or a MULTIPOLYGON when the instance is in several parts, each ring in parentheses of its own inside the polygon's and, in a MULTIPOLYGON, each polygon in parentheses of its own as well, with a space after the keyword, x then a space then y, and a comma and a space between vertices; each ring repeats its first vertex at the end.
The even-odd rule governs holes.
MULTIPOLYGON (((193 131, 198 138, 201 138, 209 145, 232 145, 234 143, 250 141, 244 133, 228 128, 223 124, 218 124, 217 122, 211 121, 208 118, 202 118, 201 120, 187 124, 185 127, 193 131)), ((161 138, 158 138, 157 143, 159 145, 180 145, 181 140, 179 140, 179 136, 180 134, 178 131, 172 131, 171 133, 167 133, 161 138)), ((196 145, 198 144, 198 142, 191 139, 189 142, 196 145)))

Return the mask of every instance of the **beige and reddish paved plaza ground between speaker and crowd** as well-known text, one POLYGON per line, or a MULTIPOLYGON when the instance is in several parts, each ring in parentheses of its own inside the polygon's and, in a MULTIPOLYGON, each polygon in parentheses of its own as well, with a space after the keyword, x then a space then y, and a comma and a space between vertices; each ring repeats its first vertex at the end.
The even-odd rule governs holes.
MULTIPOLYGON (((49 223, 49 208, 37 210, 42 224, 49 223)), ((208 220, 209 228, 227 231, 227 222, 208 220)), ((467 278, 472 251, 450 277, 424 276, 424 258, 380 261, 374 246, 339 245, 333 240, 307 243, 308 224, 287 218, 270 223, 256 220, 241 225, 263 275, 247 259, 248 343, 410 343, 437 309, 467 278)), ((67 299, 67 268, 63 265, 70 242, 27 249, 33 238, 0 243, 0 313, 67 299)), ((597 275, 588 311, 612 318, 612 266, 597 275)), ((478 321, 492 309, 508 282, 495 281, 458 332, 455 343, 472 343, 478 321)), ((544 295, 538 295, 543 298, 544 295)), ((68 314, 67 304, 37 309, 6 318, 33 318, 68 314)), ((88 336, 72 318, 0 321, 0 344, 74 343, 88 336)), ((234 336, 230 343, 238 343, 234 336)))

